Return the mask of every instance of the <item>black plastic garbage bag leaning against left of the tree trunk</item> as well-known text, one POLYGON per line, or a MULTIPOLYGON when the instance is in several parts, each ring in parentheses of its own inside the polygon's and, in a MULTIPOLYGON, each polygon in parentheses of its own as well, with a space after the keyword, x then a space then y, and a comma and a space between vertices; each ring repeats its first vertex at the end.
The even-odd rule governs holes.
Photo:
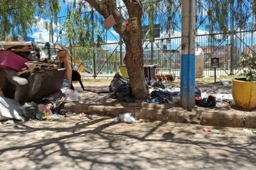
POLYGON ((122 77, 119 73, 115 74, 110 84, 110 97, 118 98, 122 102, 134 102, 129 79, 122 77))

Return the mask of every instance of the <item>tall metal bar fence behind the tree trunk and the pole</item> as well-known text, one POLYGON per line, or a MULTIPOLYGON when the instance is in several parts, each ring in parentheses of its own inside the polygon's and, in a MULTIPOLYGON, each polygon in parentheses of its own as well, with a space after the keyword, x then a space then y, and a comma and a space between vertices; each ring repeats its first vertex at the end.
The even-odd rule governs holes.
MULTIPOLYGON (((230 11, 228 11, 226 33, 206 29, 208 24, 206 13, 209 13, 209 8, 205 6, 206 0, 196 1, 196 15, 197 18, 200 18, 196 22, 196 54, 200 53, 203 56, 204 77, 214 76, 214 71, 210 67, 212 57, 218 57, 220 60, 217 76, 227 76, 241 73, 238 62, 243 52, 255 52, 255 16, 250 10, 245 17, 251 18, 251 26, 246 29, 240 28, 240 19, 236 18, 238 16, 235 15, 234 1, 230 1, 228 4, 230 11)), ((173 69, 175 74, 179 76, 181 65, 181 1, 174 1, 172 8, 166 5, 169 2, 168 0, 161 0, 151 5, 144 5, 143 24, 150 24, 149 18, 151 16, 147 11, 153 8, 154 24, 159 24, 161 28, 159 38, 152 38, 152 36, 151 38, 146 36, 143 38, 143 57, 145 65, 157 64, 159 68, 173 69)), ((250 0, 243 1, 243 3, 244 6, 247 6, 250 4, 250 0)), ((249 7, 247 6, 247 8, 249 7)), ((119 10, 124 14, 124 17, 127 17, 125 6, 120 6, 119 10)), ((92 13, 97 16, 94 20, 103 21, 103 18, 96 11, 92 13)), ((215 20, 218 19, 215 18, 215 20)), ((102 28, 103 26, 99 27, 102 28)), ((153 31, 149 30, 149 33, 153 33, 153 31)), ((70 47, 73 67, 80 69, 83 77, 113 77, 119 65, 122 65, 125 55, 122 38, 113 28, 105 30, 102 36, 105 38, 105 42, 97 44, 97 38, 94 37, 95 43, 90 48, 70 47)))

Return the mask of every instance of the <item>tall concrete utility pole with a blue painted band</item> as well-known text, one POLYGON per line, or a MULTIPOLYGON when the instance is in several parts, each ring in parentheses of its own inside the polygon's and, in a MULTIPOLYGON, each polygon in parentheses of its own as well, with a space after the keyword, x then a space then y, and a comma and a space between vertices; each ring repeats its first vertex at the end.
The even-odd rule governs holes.
POLYGON ((182 0, 181 106, 195 107, 196 0, 182 0))

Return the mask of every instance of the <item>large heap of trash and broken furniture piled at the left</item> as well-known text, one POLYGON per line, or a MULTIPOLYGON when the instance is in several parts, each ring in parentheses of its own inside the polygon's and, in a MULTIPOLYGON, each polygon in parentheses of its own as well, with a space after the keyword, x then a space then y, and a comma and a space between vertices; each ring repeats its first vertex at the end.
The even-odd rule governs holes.
POLYGON ((68 57, 50 42, 0 41, 0 120, 57 119, 61 103, 78 101, 68 57))

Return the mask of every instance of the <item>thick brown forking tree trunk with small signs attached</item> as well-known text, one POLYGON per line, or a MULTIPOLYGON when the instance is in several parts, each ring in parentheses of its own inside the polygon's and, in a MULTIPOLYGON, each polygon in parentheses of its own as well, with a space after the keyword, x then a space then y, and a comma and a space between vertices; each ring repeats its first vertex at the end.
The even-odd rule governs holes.
POLYGON ((124 0, 127 7, 129 18, 137 18, 138 28, 136 30, 127 30, 124 17, 117 8, 115 0, 86 0, 90 6, 100 13, 104 18, 112 14, 117 22, 114 30, 124 40, 126 45, 126 55, 124 63, 127 65, 129 82, 132 87, 132 96, 136 99, 145 99, 148 96, 144 77, 144 61, 142 49, 142 1, 124 0))

